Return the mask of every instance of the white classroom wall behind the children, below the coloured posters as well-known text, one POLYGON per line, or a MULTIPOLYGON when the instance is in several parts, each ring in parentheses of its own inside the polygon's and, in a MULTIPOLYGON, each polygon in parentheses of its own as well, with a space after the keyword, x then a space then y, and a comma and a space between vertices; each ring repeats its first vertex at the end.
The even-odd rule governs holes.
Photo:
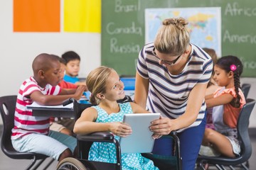
MULTIPOLYGON (((18 93, 23 80, 33 74, 31 63, 34 57, 42 52, 55 55, 67 50, 78 52, 80 77, 86 77, 90 70, 100 66, 99 33, 14 33, 12 3, 0 1, 0 96, 18 93)), ((256 99, 256 78, 242 78, 241 81, 252 84, 248 97, 256 99)), ((256 107, 250 127, 256 128, 256 107)))

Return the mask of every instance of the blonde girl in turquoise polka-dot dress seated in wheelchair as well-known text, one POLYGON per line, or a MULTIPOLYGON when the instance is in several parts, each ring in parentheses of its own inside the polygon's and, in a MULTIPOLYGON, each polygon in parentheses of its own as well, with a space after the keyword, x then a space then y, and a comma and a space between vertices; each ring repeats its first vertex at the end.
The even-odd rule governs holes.
MULTIPOLYGON (((109 131, 119 140, 132 134, 129 125, 122 123, 126 113, 148 113, 136 103, 117 103, 124 98, 124 84, 117 72, 109 67, 92 70, 86 79, 91 92, 90 103, 96 105, 85 109, 75 123, 76 134, 109 131)), ((152 137, 159 138, 154 134, 152 137)), ((97 162, 115 163, 116 152, 113 143, 94 142, 90 148, 89 159, 97 162)), ((158 169, 154 163, 140 153, 121 154, 122 169, 158 169)))

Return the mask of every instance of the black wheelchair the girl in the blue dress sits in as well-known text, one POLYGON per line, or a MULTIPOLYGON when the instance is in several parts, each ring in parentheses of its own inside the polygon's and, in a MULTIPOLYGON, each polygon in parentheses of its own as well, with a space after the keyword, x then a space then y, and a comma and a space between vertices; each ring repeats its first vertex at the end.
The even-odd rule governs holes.
MULTIPOLYGON (((122 100, 119 100, 117 102, 124 103, 124 102, 131 102, 132 99, 129 96, 125 96, 122 100)), ((74 103, 74 112, 75 112, 75 119, 77 120, 82 111, 85 108, 88 108, 92 106, 92 104, 80 104, 77 101, 75 101, 73 98, 68 99, 68 101, 65 101, 63 105, 66 105, 68 103, 74 103)), ((181 159, 180 159, 180 150, 179 150, 179 140, 176 136, 175 132, 171 134, 173 137, 175 137, 176 141, 176 163, 177 168, 181 169, 181 159)), ((73 158, 66 158, 61 161, 57 169, 65 169, 65 168, 76 168, 78 170, 84 170, 84 169, 90 169, 90 170, 97 170, 97 169, 117 169, 121 170, 121 149, 119 147, 119 142, 114 139, 114 135, 110 132, 94 132, 89 135, 77 135, 78 140, 78 159, 73 158), (116 146, 116 152, 117 152, 117 162, 115 164, 112 163, 105 163, 105 162, 93 162, 88 160, 89 150, 92 145, 92 142, 112 142, 116 146), (84 165, 82 166, 81 163, 84 165)), ((149 159, 152 159, 154 164, 164 164, 164 159, 159 159, 159 157, 154 157, 153 154, 146 154, 144 157, 148 157, 149 159), (153 156, 153 157, 152 157, 153 156)), ((169 161, 166 160, 165 161, 169 161)))

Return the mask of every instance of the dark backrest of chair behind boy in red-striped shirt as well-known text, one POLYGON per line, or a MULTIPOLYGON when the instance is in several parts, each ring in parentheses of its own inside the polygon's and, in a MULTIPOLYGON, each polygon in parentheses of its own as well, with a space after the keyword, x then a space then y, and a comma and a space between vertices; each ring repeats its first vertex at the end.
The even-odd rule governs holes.
POLYGON ((16 108, 17 96, 2 96, 0 97, 0 112, 1 118, 4 123, 4 130, 1 137, 1 149, 5 154, 9 154, 8 151, 15 149, 11 144, 11 129, 14 128, 14 113, 16 108))

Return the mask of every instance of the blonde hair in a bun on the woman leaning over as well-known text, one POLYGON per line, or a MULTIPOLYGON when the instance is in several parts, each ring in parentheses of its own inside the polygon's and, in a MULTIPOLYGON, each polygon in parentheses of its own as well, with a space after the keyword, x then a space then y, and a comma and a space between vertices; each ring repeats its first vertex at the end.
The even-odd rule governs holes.
POLYGON ((167 18, 159 28, 154 47, 161 53, 173 56, 182 55, 189 45, 188 22, 184 18, 167 18))

